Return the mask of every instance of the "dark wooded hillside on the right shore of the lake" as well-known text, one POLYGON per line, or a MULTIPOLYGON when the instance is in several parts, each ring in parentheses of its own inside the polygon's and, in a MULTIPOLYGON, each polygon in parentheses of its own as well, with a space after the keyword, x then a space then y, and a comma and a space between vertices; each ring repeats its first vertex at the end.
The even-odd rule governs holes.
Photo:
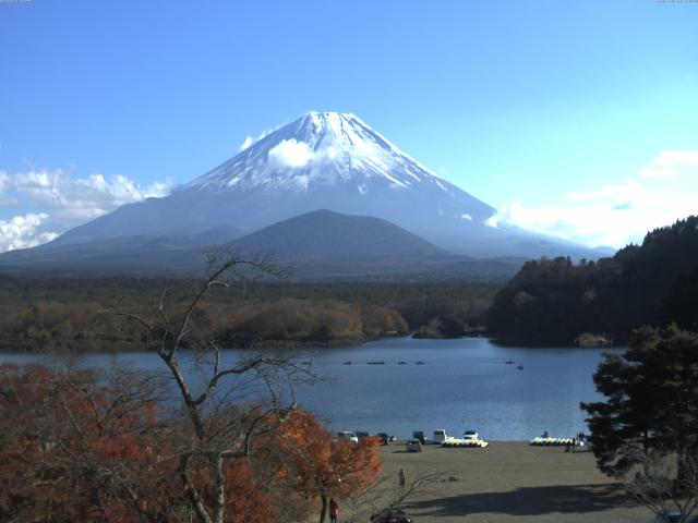
POLYGON ((528 262, 495 296, 490 330, 502 341, 626 342, 643 325, 698 329, 698 217, 648 233, 598 262, 528 262), (589 337, 594 339, 594 336, 589 337))

